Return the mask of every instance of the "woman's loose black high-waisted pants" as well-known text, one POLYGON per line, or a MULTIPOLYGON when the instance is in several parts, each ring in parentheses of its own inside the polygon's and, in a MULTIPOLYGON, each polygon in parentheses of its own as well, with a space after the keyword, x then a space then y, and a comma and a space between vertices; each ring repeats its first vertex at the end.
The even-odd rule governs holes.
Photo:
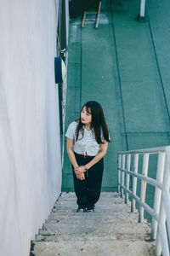
MULTIPOLYGON (((85 166, 89 161, 93 160, 94 156, 84 156, 75 153, 78 166, 85 166)), ((77 195, 77 205, 79 207, 94 207, 94 204, 99 200, 101 191, 101 182, 104 172, 104 160, 99 160, 94 166, 85 172, 85 179, 80 180, 77 178, 74 168, 74 187, 77 195)))

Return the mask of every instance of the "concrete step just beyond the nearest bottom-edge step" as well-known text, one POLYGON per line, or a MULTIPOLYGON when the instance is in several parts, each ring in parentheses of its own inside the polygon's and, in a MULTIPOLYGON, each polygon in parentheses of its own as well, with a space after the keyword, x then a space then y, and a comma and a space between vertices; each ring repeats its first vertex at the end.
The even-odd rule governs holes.
MULTIPOLYGON (((92 236, 100 239, 145 239, 150 233, 150 227, 142 224, 105 224, 95 226, 94 224, 73 224, 70 229, 66 225, 48 224, 46 229, 40 230, 42 236, 56 236, 63 240, 87 240, 92 236)), ((94 240, 95 240, 94 239, 94 240)))

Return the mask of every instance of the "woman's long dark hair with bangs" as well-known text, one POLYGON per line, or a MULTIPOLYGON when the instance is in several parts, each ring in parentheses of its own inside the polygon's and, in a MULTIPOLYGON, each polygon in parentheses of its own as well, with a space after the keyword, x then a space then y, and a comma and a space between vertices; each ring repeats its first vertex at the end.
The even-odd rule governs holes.
MULTIPOLYGON (((94 135, 97 143, 104 143, 101 140, 101 129, 103 130, 104 139, 106 142, 110 143, 111 140, 109 138, 109 130, 107 128, 107 124, 105 122, 105 115, 103 112, 103 109, 99 105, 98 102, 87 102, 84 104, 83 108, 86 108, 86 111, 92 115, 92 123, 91 123, 91 129, 94 129, 94 135)), ((82 112, 81 109, 81 112, 82 112)), ((77 119, 77 132, 76 132, 76 141, 78 139, 79 131, 82 131, 82 137, 84 134, 83 131, 83 125, 81 121, 81 112, 80 112, 80 118, 77 119)), ((82 139, 82 138, 81 138, 82 139)))

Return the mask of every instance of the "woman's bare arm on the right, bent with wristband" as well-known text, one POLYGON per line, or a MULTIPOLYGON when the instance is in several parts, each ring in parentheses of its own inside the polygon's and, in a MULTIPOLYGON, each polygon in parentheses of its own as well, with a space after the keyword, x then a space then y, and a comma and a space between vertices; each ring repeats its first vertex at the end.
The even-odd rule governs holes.
MULTIPOLYGON (((100 159, 102 159, 102 157, 105 156, 105 154, 106 154, 106 152, 107 152, 107 147, 108 147, 108 143, 107 143, 107 142, 101 144, 99 153, 96 154, 95 157, 94 157, 94 159, 91 160, 91 161, 86 165, 86 167, 87 167, 88 169, 91 168, 92 166, 94 166, 97 162, 99 162, 100 159)), ((77 173, 77 172, 85 172, 84 166, 76 167, 76 168, 75 168, 75 173, 77 173)))

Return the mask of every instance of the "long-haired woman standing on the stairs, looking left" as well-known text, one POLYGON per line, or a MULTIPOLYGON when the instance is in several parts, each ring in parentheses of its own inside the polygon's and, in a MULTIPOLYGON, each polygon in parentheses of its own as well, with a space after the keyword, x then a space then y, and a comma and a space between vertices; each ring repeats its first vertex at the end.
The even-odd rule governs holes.
POLYGON ((99 103, 87 102, 82 107, 80 118, 69 125, 65 136, 77 195, 77 212, 94 212, 101 190, 103 157, 110 142, 99 103))

